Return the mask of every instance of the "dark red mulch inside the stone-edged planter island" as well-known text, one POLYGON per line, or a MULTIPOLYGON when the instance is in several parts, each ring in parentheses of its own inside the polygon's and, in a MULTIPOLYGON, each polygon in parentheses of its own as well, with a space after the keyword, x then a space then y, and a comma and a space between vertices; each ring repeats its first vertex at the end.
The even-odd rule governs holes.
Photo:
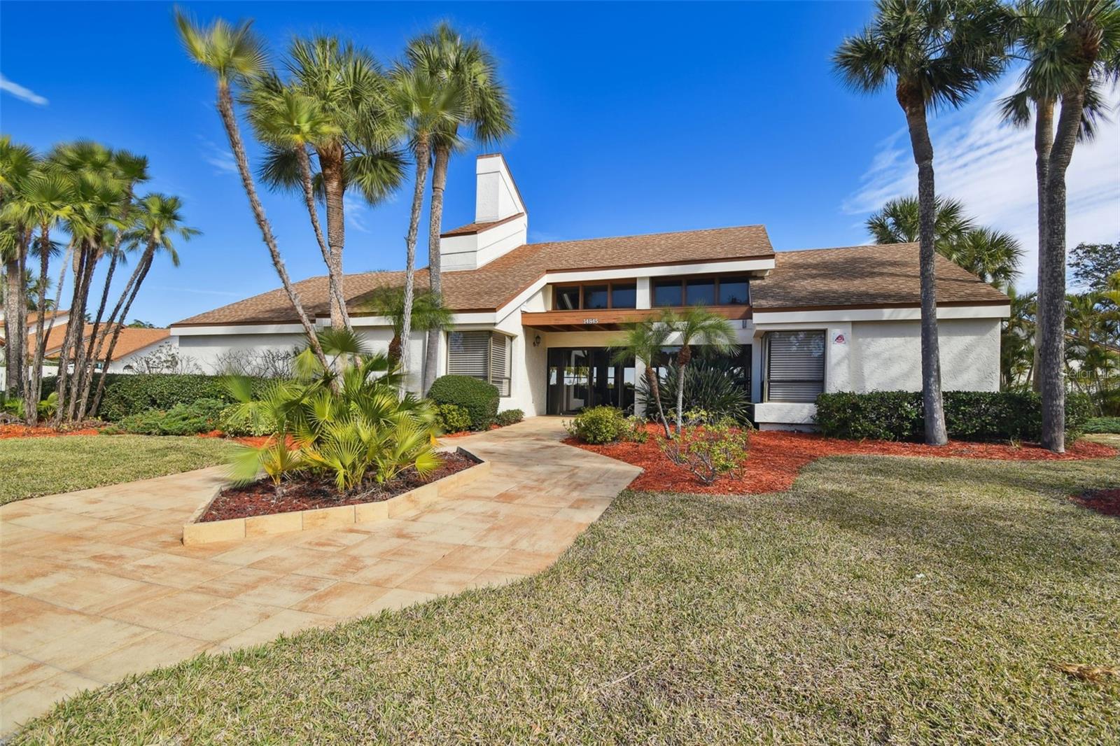
POLYGON ((377 503, 461 472, 476 463, 463 454, 444 454, 442 466, 424 478, 421 478, 414 469, 409 469, 386 484, 365 484, 342 495, 335 488, 334 482, 327 478, 291 479, 282 482, 279 487, 272 484, 272 479, 258 479, 248 485, 223 489, 198 521, 206 523, 316 507, 377 503))

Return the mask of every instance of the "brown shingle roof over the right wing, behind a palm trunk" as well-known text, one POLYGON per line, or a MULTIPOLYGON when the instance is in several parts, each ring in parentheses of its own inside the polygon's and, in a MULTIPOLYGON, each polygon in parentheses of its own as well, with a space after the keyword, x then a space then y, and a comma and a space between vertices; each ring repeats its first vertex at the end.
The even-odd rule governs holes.
MULTIPOLYGON (((750 283, 756 310, 844 306, 917 306, 918 245, 848 246, 780 251, 765 280, 750 283)), ((1007 296, 937 255, 937 302, 1006 304, 1007 296)))

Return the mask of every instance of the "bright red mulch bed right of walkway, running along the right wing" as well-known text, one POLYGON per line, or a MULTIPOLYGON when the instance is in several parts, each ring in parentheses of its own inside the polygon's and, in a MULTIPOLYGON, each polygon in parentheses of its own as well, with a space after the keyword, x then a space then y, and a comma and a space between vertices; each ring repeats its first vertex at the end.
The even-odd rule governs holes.
POLYGON ((724 477, 715 484, 703 485, 685 469, 669 460, 657 448, 656 432, 650 427, 650 439, 644 444, 616 442, 590 446, 566 438, 564 442, 577 448, 603 454, 620 461, 641 466, 644 470, 632 489, 648 492, 691 492, 717 495, 759 494, 783 492, 793 486, 802 467, 825 456, 932 456, 937 458, 982 458, 991 460, 1058 461, 1083 458, 1110 458, 1120 454, 1102 444, 1079 440, 1064 454, 1054 454, 1033 445, 1009 446, 992 442, 949 441, 936 447, 918 442, 888 442, 883 440, 840 440, 805 432, 760 430, 750 436, 750 451, 746 469, 738 478, 724 477))

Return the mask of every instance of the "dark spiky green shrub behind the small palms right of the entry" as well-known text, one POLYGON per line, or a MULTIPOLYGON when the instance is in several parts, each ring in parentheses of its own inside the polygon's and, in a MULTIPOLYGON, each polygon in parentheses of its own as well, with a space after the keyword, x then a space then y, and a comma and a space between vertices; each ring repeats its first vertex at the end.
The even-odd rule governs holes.
MULTIPOLYGON (((665 417, 676 411, 676 364, 670 363, 657 388, 665 417)), ((643 375, 637 383, 637 398, 645 405, 646 414, 656 414, 657 405, 643 375)), ((718 417, 730 417, 736 422, 750 421, 750 391, 738 377, 738 367, 726 358, 696 357, 684 369, 684 412, 703 410, 718 417)))

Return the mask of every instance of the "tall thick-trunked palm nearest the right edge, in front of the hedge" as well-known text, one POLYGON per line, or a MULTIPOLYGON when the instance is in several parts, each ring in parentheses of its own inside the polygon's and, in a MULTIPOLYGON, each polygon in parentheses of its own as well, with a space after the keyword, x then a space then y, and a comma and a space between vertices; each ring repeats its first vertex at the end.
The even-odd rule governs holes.
POLYGON ((1091 138, 1103 102, 1100 86, 1120 73, 1120 8, 1114 0, 1028 1, 1018 46, 1027 57, 1019 91, 1005 102, 1012 122, 1035 110, 1038 180, 1038 382, 1042 445, 1065 450, 1065 171, 1077 140, 1091 138), (1054 109, 1061 103, 1055 127, 1054 109))

